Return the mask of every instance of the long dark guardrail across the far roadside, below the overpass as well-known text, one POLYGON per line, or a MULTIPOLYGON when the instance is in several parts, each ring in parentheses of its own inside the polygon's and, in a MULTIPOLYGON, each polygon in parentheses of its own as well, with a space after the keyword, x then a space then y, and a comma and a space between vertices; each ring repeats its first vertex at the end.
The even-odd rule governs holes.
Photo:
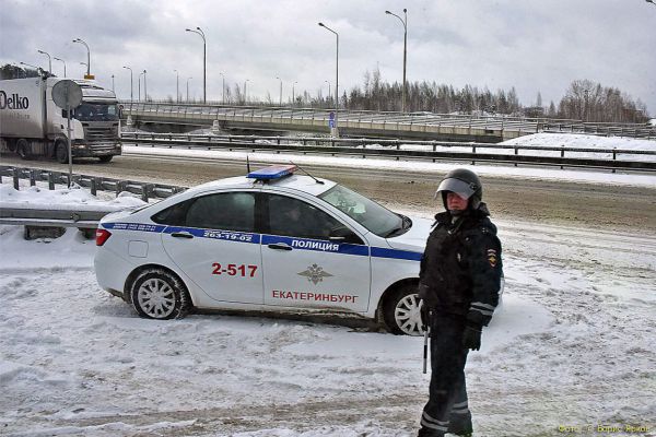
POLYGON ((399 141, 378 139, 336 139, 336 138, 289 138, 253 135, 190 135, 174 133, 122 134, 124 143, 148 144, 151 146, 185 149, 227 149, 340 154, 366 156, 386 156, 397 160, 417 158, 452 161, 509 163, 531 165, 551 165, 562 167, 587 167, 612 169, 656 170, 656 150, 623 149, 579 149, 566 146, 507 145, 487 143, 460 143, 443 141, 399 141), (501 151, 501 153, 500 153, 501 151), (505 151, 512 153, 504 153, 505 151), (531 155, 527 152, 551 152, 553 155, 531 155), (594 154, 590 157, 589 154, 594 154), (626 157, 633 160, 626 160, 626 157), (635 156, 654 156, 653 161, 639 161, 635 156))

